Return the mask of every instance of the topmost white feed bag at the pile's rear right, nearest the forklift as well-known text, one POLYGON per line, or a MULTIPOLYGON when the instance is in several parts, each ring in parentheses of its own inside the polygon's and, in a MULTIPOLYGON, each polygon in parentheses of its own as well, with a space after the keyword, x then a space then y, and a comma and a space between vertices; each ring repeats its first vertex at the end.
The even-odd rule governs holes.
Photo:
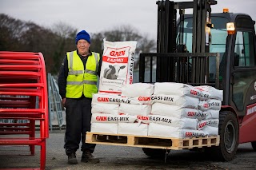
MULTIPOLYGON (((195 88, 199 89, 202 93, 208 94, 209 98, 223 101, 223 90, 216 89, 209 85, 196 86, 195 88)), ((202 98, 202 100, 206 99, 202 98)))

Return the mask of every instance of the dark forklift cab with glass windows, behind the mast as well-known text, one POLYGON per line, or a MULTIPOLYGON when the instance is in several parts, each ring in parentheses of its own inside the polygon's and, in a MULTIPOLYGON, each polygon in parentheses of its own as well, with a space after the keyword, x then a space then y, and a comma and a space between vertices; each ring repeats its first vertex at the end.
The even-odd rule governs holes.
MULTIPOLYGON (((176 45, 186 45, 188 52, 192 51, 193 16, 186 15, 184 22, 178 20, 176 45), (184 28, 182 29, 181 26, 184 28), (184 30, 180 32, 180 30, 184 30)), ((252 102, 246 100, 250 85, 254 84, 255 72, 255 32, 254 21, 246 14, 211 14, 210 53, 220 53, 219 89, 224 89, 224 105, 233 105, 238 115, 244 116, 246 105, 252 102), (228 33, 227 23, 235 23, 235 31, 228 33), (226 90, 227 89, 227 90, 226 90), (232 100, 229 100, 230 97, 232 100)), ((209 81, 216 78, 215 57, 209 57, 209 81)), ((252 92, 254 93, 254 89, 252 92)))

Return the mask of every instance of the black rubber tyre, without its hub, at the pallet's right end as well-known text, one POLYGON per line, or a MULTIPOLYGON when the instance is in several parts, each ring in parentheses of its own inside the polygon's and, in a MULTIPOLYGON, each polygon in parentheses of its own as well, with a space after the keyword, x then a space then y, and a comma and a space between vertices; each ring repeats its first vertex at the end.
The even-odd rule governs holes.
POLYGON ((238 150, 238 140, 239 140, 239 125, 237 117, 234 113, 230 111, 221 111, 219 113, 219 124, 218 124, 218 134, 220 135, 220 144, 219 146, 214 146, 210 148, 206 148, 207 155, 211 156, 214 160, 221 161, 230 161, 234 159, 234 156, 238 150), (234 125, 234 148, 231 152, 227 152, 225 147, 225 130, 227 123, 231 121, 234 125))

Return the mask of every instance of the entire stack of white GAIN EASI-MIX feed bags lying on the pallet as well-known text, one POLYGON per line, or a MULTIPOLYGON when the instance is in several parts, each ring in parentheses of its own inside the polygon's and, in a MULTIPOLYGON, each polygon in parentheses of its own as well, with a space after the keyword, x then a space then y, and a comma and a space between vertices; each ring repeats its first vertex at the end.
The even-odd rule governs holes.
POLYGON ((218 135, 222 90, 162 82, 94 94, 91 132, 174 138, 218 135))

